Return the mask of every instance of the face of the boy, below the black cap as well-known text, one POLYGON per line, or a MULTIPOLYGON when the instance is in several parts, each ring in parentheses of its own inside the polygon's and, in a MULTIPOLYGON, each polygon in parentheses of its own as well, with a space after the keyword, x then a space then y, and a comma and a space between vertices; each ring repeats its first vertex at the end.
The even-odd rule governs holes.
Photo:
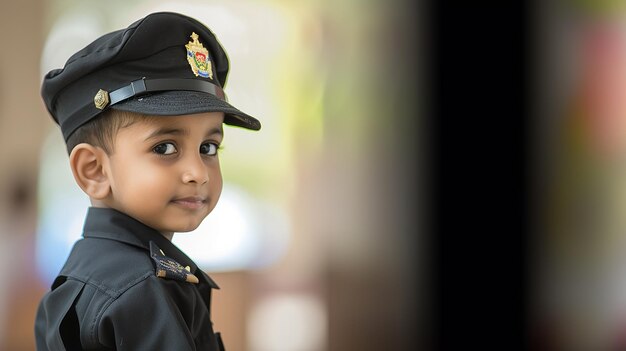
POLYGON ((222 191, 224 113, 160 116, 118 131, 106 205, 164 233, 194 230, 222 191))

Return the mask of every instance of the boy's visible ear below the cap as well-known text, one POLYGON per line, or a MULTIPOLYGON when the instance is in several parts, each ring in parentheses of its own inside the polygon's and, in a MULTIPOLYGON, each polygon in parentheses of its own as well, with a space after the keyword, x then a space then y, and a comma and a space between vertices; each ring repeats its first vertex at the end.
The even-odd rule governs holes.
POLYGON ((107 165, 106 152, 90 144, 78 144, 70 153, 70 167, 74 179, 92 199, 102 200, 111 192, 107 165))

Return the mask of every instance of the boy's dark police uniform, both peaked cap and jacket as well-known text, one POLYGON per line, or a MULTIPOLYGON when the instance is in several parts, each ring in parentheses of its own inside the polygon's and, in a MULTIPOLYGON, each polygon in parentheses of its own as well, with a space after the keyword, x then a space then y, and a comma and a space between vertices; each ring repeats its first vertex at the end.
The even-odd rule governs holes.
MULTIPOLYGON (((155 13, 106 34, 49 72, 42 97, 67 141, 107 109, 150 115, 224 112, 260 122, 226 99, 228 58, 190 17, 155 13)), ((210 319, 218 286, 175 245, 134 218, 90 208, 83 238, 43 297, 38 350, 223 350, 210 319)))

